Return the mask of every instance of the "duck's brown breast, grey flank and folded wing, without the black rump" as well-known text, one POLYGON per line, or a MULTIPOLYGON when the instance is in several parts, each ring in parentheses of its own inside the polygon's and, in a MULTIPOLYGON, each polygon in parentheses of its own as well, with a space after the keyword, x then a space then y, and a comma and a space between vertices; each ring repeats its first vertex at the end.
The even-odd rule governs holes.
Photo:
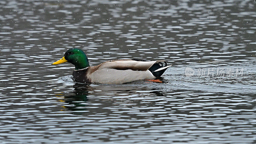
POLYGON ((123 84, 141 79, 154 79, 156 76, 148 69, 159 62, 165 61, 110 60, 98 66, 74 70, 73 76, 80 82, 102 84, 123 84))

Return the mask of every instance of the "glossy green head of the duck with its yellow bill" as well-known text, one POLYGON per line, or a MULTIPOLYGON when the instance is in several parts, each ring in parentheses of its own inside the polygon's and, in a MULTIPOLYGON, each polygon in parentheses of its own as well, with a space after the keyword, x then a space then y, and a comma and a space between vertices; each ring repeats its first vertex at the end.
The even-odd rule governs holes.
POLYGON ((71 48, 64 54, 64 57, 60 60, 52 63, 52 65, 61 64, 64 62, 69 62, 75 65, 75 70, 83 69, 89 67, 89 61, 84 51, 78 48, 71 48))

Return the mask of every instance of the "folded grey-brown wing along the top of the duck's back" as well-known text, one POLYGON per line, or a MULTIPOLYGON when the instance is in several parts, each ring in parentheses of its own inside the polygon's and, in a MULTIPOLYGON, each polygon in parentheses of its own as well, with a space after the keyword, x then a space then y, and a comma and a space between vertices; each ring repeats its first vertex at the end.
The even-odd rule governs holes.
POLYGON ((103 68, 112 68, 117 70, 134 70, 134 71, 146 71, 155 63, 161 63, 161 67, 166 67, 166 62, 164 60, 156 60, 156 61, 144 61, 144 60, 109 60, 106 62, 101 63, 98 66, 92 67, 92 72, 103 69, 103 68), (165 66, 163 66, 163 63, 165 66))

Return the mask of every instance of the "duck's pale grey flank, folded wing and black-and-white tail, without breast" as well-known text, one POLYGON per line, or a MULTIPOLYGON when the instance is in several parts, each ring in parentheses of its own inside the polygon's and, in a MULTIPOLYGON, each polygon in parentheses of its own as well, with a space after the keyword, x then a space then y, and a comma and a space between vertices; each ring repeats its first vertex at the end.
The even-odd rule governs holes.
POLYGON ((110 60, 98 66, 88 67, 86 77, 90 82, 123 84, 141 79, 154 79, 161 76, 168 67, 170 66, 167 66, 164 60, 110 60), (164 69, 160 69, 163 67, 164 69))

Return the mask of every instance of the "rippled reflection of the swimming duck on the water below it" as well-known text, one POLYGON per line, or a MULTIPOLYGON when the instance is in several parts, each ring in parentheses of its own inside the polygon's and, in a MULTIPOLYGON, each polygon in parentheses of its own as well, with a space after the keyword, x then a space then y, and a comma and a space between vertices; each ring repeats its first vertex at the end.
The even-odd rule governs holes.
POLYGON ((164 94, 158 90, 159 86, 164 85, 148 81, 137 81, 120 85, 93 84, 93 86, 76 83, 73 85, 74 90, 65 95, 64 99, 61 100, 65 102, 62 107, 65 108, 63 109, 65 111, 71 110, 71 113, 80 115, 95 110, 92 107, 97 107, 96 105, 99 105, 99 102, 104 107, 118 106, 119 103, 134 103, 138 104, 139 107, 140 101, 130 100, 130 96, 144 97, 150 95, 152 97, 163 97, 164 94), (92 92, 90 93, 91 100, 87 98, 89 92, 92 92), (101 100, 95 101, 95 98, 101 100))

